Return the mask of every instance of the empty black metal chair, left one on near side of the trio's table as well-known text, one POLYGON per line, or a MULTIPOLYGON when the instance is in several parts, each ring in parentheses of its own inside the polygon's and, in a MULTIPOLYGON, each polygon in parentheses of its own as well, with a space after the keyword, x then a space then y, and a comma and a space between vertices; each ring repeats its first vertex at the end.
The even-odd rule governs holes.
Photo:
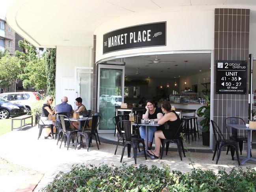
MULTIPOLYGON (((71 124, 70 120, 69 120, 69 117, 65 116, 65 115, 58 115, 58 119, 60 121, 60 127, 62 130, 60 130, 62 132, 62 140, 60 142, 60 147, 62 145, 62 141, 63 141, 63 138, 66 137, 66 141, 67 141, 67 150, 69 149, 69 144, 70 144, 70 138, 73 136, 73 135, 76 135, 77 134, 77 131, 78 130, 75 130, 73 128, 73 125, 71 124), (68 120, 64 120, 64 119, 68 119, 68 120), (66 123, 65 121, 68 121, 69 124, 71 125, 71 128, 69 129, 66 129, 66 123)), ((58 134, 58 141, 60 140, 60 133, 58 134)), ((73 141, 73 140, 72 140, 73 141)), ((64 141, 64 147, 66 147, 66 142, 64 141)), ((58 145, 58 142, 57 142, 57 145, 58 145)))

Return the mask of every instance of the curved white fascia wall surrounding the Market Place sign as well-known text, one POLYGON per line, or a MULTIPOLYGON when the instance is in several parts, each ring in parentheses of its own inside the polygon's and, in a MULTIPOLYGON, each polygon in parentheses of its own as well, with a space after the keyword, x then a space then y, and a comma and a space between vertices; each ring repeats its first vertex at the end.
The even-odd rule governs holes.
POLYGON ((97 35, 96 62, 113 56, 144 52, 213 50, 214 9, 169 11, 166 13, 150 11, 144 15, 122 20, 117 18, 99 26, 95 30, 95 35, 97 35), (166 46, 135 48, 103 55, 103 34, 128 26, 160 21, 166 21, 166 46))

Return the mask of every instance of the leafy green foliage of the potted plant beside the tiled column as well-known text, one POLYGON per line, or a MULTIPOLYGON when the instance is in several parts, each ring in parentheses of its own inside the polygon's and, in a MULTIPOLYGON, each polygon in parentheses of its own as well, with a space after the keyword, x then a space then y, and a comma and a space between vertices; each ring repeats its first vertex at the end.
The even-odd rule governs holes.
POLYGON ((204 116, 204 119, 200 122, 200 125, 203 127, 202 132, 209 132, 211 104, 209 101, 209 97, 207 95, 204 95, 204 98, 206 98, 206 101, 208 104, 198 108, 196 114, 198 115, 198 117, 204 116), (203 109, 204 109, 204 111, 202 112, 203 109))

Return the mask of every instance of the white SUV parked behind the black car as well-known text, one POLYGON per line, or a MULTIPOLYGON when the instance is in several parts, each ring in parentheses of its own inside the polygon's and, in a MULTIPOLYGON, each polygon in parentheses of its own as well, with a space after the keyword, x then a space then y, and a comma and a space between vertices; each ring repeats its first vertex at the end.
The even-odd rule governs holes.
POLYGON ((0 98, 6 99, 11 103, 19 103, 25 105, 27 109, 27 114, 31 110, 32 103, 42 99, 42 95, 37 92, 13 92, 13 93, 1 93, 0 98))

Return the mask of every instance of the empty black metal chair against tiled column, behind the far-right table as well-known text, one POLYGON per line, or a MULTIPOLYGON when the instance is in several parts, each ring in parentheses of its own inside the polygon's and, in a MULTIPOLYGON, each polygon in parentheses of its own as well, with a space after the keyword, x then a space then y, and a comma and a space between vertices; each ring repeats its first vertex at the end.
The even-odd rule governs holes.
MULTIPOLYGON (((228 126, 227 126, 228 124, 236 124, 237 125, 237 124, 241 124, 241 123, 245 124, 245 121, 240 117, 227 117, 225 119, 225 126, 226 126, 228 134, 229 134, 228 126)), ((234 129, 234 128, 231 127, 231 135, 229 135, 229 138, 238 142, 239 149, 240 149, 240 154, 242 155, 243 143, 247 143, 247 137, 238 136, 237 135, 237 129, 234 129)), ((228 147, 228 149, 227 149, 227 153, 226 153, 227 155, 228 155, 229 148, 230 147, 228 147)))

